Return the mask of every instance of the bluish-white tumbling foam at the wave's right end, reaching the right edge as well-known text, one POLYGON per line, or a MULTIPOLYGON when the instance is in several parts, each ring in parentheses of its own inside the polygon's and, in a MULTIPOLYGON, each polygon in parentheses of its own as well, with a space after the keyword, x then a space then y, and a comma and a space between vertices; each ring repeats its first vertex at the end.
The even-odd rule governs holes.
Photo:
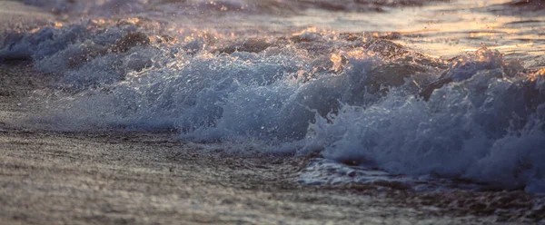
POLYGON ((545 191, 545 103, 542 97, 535 108, 527 102, 543 96, 532 93, 541 84, 508 78, 502 66, 464 67, 469 78, 436 90, 429 102, 392 92, 369 107, 345 104, 329 115, 332 122, 316 118, 302 153, 394 173, 545 191))

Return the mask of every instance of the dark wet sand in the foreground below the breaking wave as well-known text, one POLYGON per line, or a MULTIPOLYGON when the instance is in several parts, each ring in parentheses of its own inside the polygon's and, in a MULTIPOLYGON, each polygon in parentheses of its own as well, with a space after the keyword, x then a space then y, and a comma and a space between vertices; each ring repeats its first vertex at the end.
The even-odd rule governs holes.
MULTIPOLYGON (((25 18, 14 4, 0 1, 0 24, 25 18)), ((40 109, 28 98, 50 79, 28 63, 0 64, 0 224, 544 222, 542 198, 522 191, 303 186, 306 158, 223 155, 176 133, 33 128, 40 109)))

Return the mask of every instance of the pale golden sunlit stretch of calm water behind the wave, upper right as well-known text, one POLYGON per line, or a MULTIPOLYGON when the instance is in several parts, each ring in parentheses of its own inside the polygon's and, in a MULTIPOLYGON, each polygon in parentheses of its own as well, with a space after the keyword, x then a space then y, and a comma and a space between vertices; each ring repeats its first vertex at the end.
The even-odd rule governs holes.
MULTIPOLYGON (((454 56, 486 44, 507 54, 545 51, 545 37, 535 32, 545 25, 545 15, 525 18, 516 15, 492 15, 469 8, 509 3, 509 0, 451 1, 415 8, 394 8, 388 14, 309 11, 289 18, 296 26, 329 29, 338 32, 373 32, 373 36, 400 34, 394 40, 429 54, 454 56), (392 16, 395 15, 395 16, 392 16), (528 41, 525 41, 528 40, 528 41), (531 48, 536 51, 532 51, 531 48)), ((297 33, 300 34, 300 33, 297 33)))

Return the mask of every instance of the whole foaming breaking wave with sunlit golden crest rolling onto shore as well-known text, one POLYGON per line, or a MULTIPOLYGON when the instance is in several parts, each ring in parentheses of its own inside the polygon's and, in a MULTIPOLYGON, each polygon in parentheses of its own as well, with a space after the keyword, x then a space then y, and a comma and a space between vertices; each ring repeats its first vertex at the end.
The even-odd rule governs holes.
POLYGON ((251 139, 268 152, 545 191, 543 69, 486 47, 433 57, 391 42, 399 34, 237 37, 146 25, 89 20, 7 32, 0 61, 32 61, 55 77, 31 100, 55 130, 251 139))

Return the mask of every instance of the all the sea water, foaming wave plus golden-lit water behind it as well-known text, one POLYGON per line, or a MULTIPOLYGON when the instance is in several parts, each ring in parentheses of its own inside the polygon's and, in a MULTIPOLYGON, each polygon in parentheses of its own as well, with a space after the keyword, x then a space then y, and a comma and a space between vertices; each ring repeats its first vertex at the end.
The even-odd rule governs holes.
POLYGON ((54 77, 47 129, 306 155, 309 185, 545 191, 545 1, 22 2, 55 19, 13 21, 0 63, 54 77))

